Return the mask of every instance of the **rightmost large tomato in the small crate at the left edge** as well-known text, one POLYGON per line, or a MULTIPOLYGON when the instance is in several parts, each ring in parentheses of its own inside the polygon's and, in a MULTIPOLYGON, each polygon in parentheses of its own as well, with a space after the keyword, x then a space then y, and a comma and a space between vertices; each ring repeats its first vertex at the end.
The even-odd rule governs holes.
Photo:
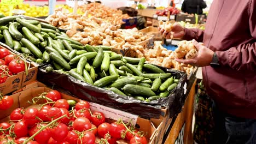
POLYGON ((21 71, 25 71, 25 62, 21 59, 13 59, 8 65, 9 70, 13 74, 18 74, 21 71))

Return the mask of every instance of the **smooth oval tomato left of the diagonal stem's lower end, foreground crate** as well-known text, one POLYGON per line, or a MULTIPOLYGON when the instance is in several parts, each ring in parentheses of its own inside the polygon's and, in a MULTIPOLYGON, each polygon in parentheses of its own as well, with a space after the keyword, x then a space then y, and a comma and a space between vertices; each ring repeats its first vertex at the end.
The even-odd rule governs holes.
POLYGON ((14 133, 17 138, 25 137, 28 134, 27 124, 24 121, 19 121, 14 125, 14 133))

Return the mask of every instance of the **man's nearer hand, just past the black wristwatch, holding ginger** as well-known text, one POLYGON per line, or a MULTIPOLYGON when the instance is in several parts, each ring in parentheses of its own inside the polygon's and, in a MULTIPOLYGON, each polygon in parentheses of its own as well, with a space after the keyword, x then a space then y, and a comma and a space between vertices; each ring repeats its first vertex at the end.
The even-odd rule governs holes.
POLYGON ((175 59, 175 61, 197 67, 205 67, 210 65, 214 52, 208 49, 206 46, 200 45, 196 40, 193 39, 192 41, 198 51, 197 56, 192 59, 175 59))

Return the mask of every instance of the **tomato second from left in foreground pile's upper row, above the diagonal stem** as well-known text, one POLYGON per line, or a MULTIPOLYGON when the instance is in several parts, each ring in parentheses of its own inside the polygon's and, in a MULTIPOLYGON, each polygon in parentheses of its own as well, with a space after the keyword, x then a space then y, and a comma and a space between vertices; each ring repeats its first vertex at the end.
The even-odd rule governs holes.
POLYGON ((39 122, 39 120, 37 119, 38 113, 39 111, 36 108, 29 108, 25 111, 22 120, 28 125, 28 127, 31 127, 39 122))

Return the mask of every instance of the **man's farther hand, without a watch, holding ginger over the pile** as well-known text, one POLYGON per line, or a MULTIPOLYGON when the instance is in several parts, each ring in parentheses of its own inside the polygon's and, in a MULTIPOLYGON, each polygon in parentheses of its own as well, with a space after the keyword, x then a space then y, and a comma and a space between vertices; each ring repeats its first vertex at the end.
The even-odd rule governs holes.
POLYGON ((178 22, 175 22, 172 25, 172 30, 171 32, 166 32, 164 29, 161 29, 160 27, 158 28, 158 30, 160 31, 161 35, 163 38, 166 39, 182 39, 185 35, 185 30, 184 27, 182 27, 181 25, 179 25, 178 22))

